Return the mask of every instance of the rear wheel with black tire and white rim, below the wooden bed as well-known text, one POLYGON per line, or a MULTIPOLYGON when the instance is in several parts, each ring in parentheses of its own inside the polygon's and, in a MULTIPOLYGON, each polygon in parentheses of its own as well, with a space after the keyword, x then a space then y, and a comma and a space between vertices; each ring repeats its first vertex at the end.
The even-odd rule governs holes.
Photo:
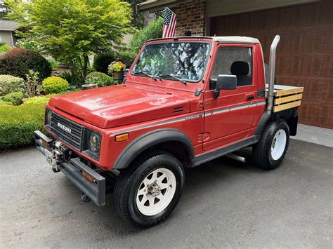
POLYGON ((252 152, 259 168, 273 170, 285 158, 289 146, 289 127, 285 120, 268 123, 252 152))

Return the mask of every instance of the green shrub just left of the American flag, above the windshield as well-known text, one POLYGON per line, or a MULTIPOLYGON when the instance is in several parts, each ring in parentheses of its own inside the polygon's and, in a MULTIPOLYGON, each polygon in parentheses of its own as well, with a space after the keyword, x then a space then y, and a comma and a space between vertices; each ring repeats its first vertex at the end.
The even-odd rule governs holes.
POLYGON ((132 53, 137 54, 143 46, 143 43, 146 41, 162 37, 162 28, 163 18, 157 18, 157 20, 150 22, 147 27, 144 27, 133 34, 133 37, 129 42, 132 53))

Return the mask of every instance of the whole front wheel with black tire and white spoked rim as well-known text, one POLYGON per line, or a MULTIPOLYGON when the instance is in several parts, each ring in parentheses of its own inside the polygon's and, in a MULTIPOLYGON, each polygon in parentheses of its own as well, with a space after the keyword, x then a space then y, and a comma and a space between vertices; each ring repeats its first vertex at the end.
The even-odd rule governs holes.
POLYGON ((176 208, 184 182, 183 167, 175 156, 162 151, 143 156, 117 179, 117 212, 136 227, 155 225, 176 208))

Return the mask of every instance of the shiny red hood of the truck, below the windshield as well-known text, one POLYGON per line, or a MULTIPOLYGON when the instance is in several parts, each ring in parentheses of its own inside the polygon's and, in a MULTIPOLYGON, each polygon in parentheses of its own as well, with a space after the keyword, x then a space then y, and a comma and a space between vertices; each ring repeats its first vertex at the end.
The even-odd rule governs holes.
POLYGON ((124 126, 190 112, 190 102, 181 97, 181 93, 171 94, 164 90, 124 85, 56 96, 48 104, 100 128, 124 126), (174 110, 177 107, 183 107, 183 111, 174 110))

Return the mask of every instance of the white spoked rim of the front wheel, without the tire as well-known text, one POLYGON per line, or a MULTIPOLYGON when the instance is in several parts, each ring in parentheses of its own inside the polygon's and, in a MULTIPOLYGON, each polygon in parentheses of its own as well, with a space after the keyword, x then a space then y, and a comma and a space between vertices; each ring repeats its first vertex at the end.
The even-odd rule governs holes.
POLYGON ((158 168, 141 182, 136 193, 136 206, 147 216, 161 213, 174 198, 176 177, 167 168, 158 168))

